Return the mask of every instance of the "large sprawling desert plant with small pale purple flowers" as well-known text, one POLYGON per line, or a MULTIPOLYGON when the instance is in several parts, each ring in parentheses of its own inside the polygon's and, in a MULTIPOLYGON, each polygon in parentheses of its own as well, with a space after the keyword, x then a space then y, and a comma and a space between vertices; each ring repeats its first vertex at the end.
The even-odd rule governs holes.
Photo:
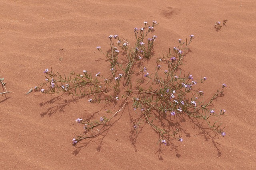
MULTIPOLYGON (((226 20, 225 22, 226 23, 226 20)), ((69 93, 76 96, 87 96, 88 102, 121 102, 120 109, 107 118, 105 115, 97 120, 76 119, 76 122, 84 125, 84 133, 75 135, 73 145, 78 142, 93 138, 111 125, 110 121, 127 104, 134 109, 132 123, 133 131, 138 132, 140 124, 148 124, 159 135, 159 142, 166 145, 170 139, 182 142, 178 135, 180 131, 179 119, 188 116, 190 119, 202 119, 215 133, 225 136, 218 119, 226 110, 219 113, 212 107, 212 102, 223 93, 226 84, 222 84, 221 90, 217 90, 212 98, 206 102, 202 100, 204 92, 196 88, 196 84, 204 83, 206 77, 196 80, 192 74, 184 74, 179 66, 189 51, 189 45, 194 39, 178 40, 178 46, 169 48, 168 53, 156 59, 154 70, 146 68, 146 63, 154 57, 154 42, 157 36, 154 27, 156 21, 150 25, 144 22, 140 29, 134 28, 135 43, 131 45, 127 39, 118 35, 110 35, 110 49, 105 53, 101 47, 96 49, 106 56, 110 63, 108 71, 104 73, 88 73, 61 76, 52 69, 44 70, 46 82, 41 83, 36 90, 45 94, 69 93), (146 41, 145 41, 146 40, 146 41), (134 76, 135 75, 135 76, 134 76), (132 102, 129 102, 132 101, 132 102), (95 130, 96 129, 96 130, 95 130)), ((218 24, 217 24, 218 25, 218 24)), ((151 68, 152 69, 152 68, 151 68)), ((106 110, 107 113, 112 113, 106 110)))

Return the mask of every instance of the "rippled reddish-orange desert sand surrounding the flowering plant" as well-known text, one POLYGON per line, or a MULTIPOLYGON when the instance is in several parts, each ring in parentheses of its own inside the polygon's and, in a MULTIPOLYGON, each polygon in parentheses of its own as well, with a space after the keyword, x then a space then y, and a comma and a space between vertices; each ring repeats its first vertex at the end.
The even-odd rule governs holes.
POLYGON ((255 44, 255 0, 1 0, 0 78, 12 93, 0 95, 0 169, 256 169, 255 44), (216 31, 214 23, 225 19, 226 27, 216 31), (227 84, 213 102, 226 110, 226 136, 204 133, 186 118, 183 142, 159 145, 147 125, 134 138, 130 105, 108 131, 74 147, 74 134, 83 131, 75 120, 109 116, 105 105, 26 93, 45 81, 46 68, 103 73, 109 64, 96 46, 107 51, 115 34, 133 40, 134 27, 153 20, 159 23, 154 59, 193 34, 182 70, 207 77, 206 99, 227 84))

